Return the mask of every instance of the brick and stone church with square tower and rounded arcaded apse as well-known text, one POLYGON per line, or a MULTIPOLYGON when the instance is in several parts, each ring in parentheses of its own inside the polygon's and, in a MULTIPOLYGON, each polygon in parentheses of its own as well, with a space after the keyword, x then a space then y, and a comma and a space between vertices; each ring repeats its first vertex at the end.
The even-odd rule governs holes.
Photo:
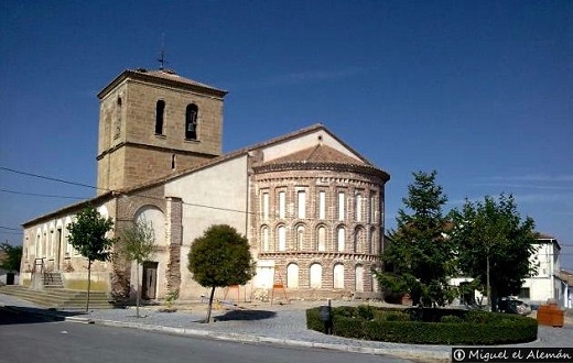
POLYGON ((110 235, 142 219, 154 230, 155 253, 142 266, 94 264, 91 286, 112 297, 139 286, 150 300, 174 292, 199 299, 206 288, 187 254, 221 223, 247 237, 257 264, 240 299, 379 297, 371 271, 380 268, 388 173, 323 124, 223 154, 226 94, 164 69, 111 80, 98 94, 97 196, 23 224, 20 283, 51 274, 84 288, 87 261, 67 243, 67 226, 91 204, 113 220, 110 235))

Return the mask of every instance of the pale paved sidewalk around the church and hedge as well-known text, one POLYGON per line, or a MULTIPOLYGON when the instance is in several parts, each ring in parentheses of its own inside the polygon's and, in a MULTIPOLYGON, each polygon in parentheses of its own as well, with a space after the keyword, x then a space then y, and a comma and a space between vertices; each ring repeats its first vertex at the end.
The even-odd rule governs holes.
MULTIPOLYGON (((215 322, 209 324, 201 322, 206 317, 206 304, 199 302, 177 305, 175 312, 162 312, 160 307, 140 308, 140 318, 136 317, 134 308, 93 310, 89 314, 82 311, 51 314, 66 315, 66 321, 91 322, 171 334, 389 355, 422 362, 450 362, 451 345, 363 341, 307 330, 305 309, 322 304, 324 302, 298 301, 282 306, 268 302, 242 304, 235 310, 213 310, 215 322)), ((333 306, 348 304, 333 301, 333 306)), ((23 300, 6 295, 0 295, 0 306, 2 305, 34 308, 23 300)), ((567 323, 564 328, 540 326, 537 341, 511 346, 573 346, 573 324, 567 323)))

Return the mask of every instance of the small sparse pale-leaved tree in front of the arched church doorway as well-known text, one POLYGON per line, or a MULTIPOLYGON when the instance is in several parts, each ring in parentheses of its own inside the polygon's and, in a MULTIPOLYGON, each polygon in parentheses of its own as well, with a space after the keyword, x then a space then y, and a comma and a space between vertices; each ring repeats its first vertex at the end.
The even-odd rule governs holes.
POLYGON ((118 256, 129 262, 136 261, 136 315, 139 318, 140 288, 139 288, 139 266, 151 258, 154 251, 155 233, 153 226, 147 220, 134 221, 127 229, 121 230, 116 242, 116 253, 118 256))

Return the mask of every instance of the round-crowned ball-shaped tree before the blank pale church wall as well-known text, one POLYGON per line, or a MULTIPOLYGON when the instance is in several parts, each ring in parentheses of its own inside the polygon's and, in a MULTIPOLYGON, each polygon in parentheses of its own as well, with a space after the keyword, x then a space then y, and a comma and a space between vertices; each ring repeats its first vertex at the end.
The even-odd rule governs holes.
POLYGON ((249 241, 227 224, 212 226, 193 241, 187 267, 193 279, 212 288, 205 322, 210 322, 216 287, 245 285, 255 275, 249 241))

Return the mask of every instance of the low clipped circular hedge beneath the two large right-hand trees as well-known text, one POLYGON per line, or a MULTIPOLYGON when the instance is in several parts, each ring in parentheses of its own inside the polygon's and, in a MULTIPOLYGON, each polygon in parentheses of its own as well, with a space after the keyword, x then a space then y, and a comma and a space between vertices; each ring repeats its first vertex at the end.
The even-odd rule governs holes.
MULTIPOLYGON (((476 310, 428 310, 420 314, 418 309, 338 307, 333 309, 333 333, 375 341, 452 345, 509 344, 537 339, 538 323, 531 318, 476 310)), ((318 308, 306 310, 306 327, 324 330, 318 308)))

